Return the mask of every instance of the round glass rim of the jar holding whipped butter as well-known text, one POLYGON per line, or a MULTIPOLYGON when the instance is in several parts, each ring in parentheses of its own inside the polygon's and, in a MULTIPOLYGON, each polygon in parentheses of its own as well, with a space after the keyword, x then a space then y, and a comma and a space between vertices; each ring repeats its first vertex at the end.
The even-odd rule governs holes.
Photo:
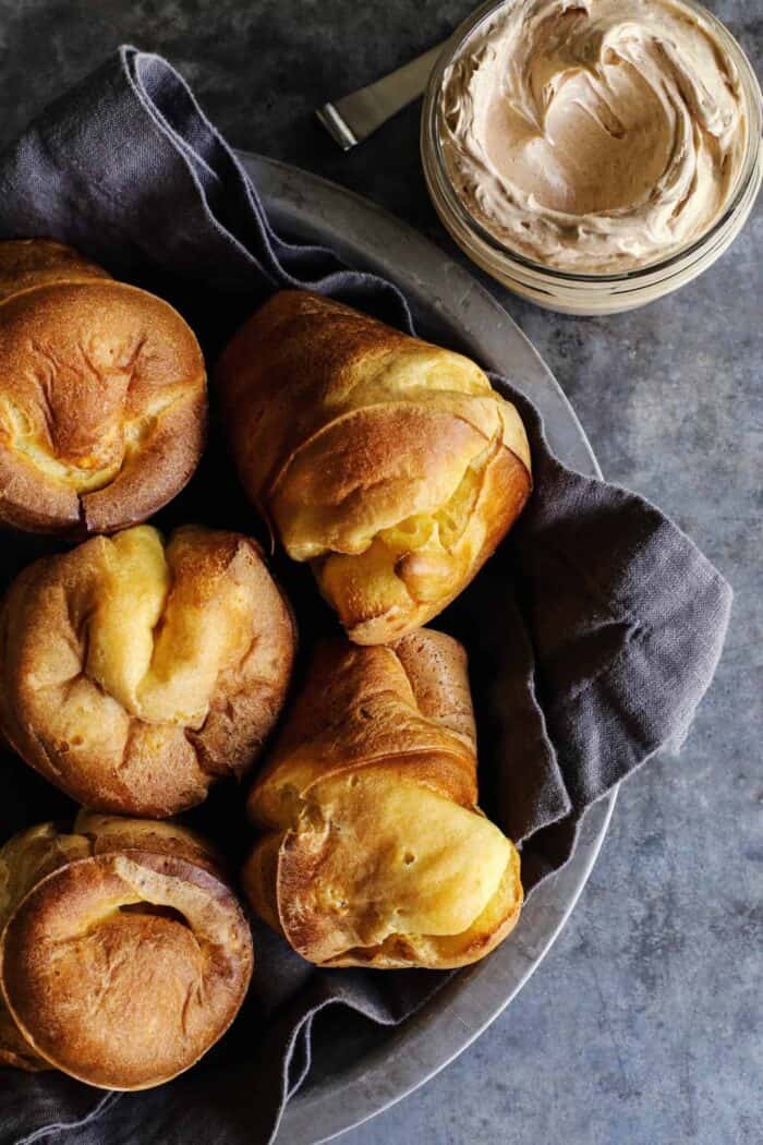
POLYGON ((748 102, 747 110, 750 113, 750 126, 747 133, 745 158, 740 167, 733 194, 730 197, 728 205, 721 214, 714 219, 712 226, 706 231, 697 238, 690 239, 683 246, 673 250, 667 256, 655 259, 654 261, 642 267, 633 267, 629 270, 605 273, 559 270, 545 262, 538 262, 534 259, 530 259, 502 243, 463 205, 463 202, 461 200, 461 197, 455 190, 448 175, 439 133, 439 95, 443 89, 445 72, 459 58, 468 41, 477 34, 484 24, 498 15, 501 9, 509 8, 511 5, 518 2, 519 0, 487 0, 486 3, 483 3, 476 11, 471 13, 470 16, 467 16, 467 18, 459 24, 451 38, 447 40, 445 48, 443 49, 429 76, 422 109, 421 147, 422 149, 429 150, 435 158, 435 168, 438 176, 438 190, 443 196, 447 210, 452 215, 455 215, 462 227, 464 227, 468 231, 471 231, 482 242, 482 244, 487 246, 499 259, 514 263, 518 267, 523 267, 524 269, 535 274, 548 276, 557 282, 581 283, 587 285, 635 282, 639 278, 647 278, 651 275, 670 270, 678 264, 684 264, 685 261, 688 259, 691 260, 693 255, 701 256, 708 244, 715 239, 716 235, 723 230, 729 220, 734 215, 739 205, 745 200, 745 196, 750 187, 750 183, 756 179, 757 161, 762 151, 761 136, 763 132, 763 95, 761 94, 761 86, 758 84, 757 76, 755 74, 753 65, 741 45, 734 39, 725 24, 702 3, 699 3, 698 0, 669 0, 669 2, 675 3, 676 7, 683 6, 685 8, 690 8, 692 11, 701 16, 701 18, 706 21, 717 34, 723 46, 732 56, 734 65, 740 74, 742 89, 748 102))

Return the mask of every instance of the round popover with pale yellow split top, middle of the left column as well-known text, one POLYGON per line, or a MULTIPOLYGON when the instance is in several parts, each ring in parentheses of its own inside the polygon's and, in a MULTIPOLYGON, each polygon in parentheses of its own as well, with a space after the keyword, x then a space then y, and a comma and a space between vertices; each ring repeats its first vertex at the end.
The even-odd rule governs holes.
POLYGON ((172 815, 256 757, 294 652, 292 611, 248 537, 93 537, 29 566, 0 606, 0 728, 78 803, 172 815))

